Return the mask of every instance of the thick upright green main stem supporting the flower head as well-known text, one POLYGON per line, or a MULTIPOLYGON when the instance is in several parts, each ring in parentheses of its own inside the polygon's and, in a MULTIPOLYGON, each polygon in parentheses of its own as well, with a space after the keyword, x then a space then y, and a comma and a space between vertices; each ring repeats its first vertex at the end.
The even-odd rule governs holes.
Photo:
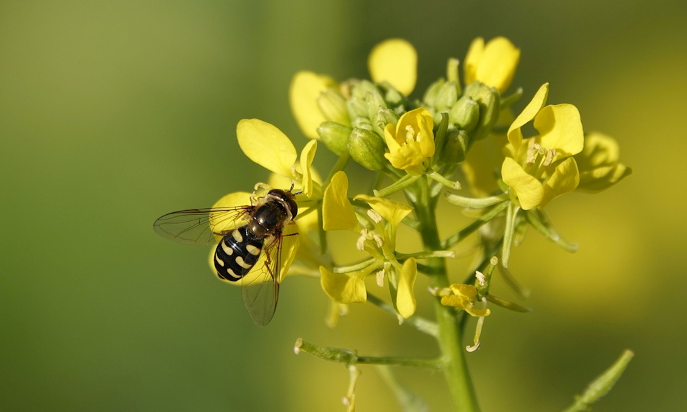
MULTIPOLYGON (((420 181, 420 183, 420 196, 418 196, 418 201, 414 203, 415 212, 420 221, 420 236, 422 236, 425 244, 425 250, 439 251, 444 248, 439 238, 434 203, 429 198, 429 185, 427 180, 420 181)), ((431 258, 427 260, 427 266, 432 269, 432 274, 428 276, 429 286, 447 288, 449 277, 445 260, 443 258, 431 258)), ((442 356, 446 361, 442 371, 449 386, 453 409, 460 412, 479 411, 455 311, 449 306, 442 305, 438 297, 434 300, 434 310, 439 327, 437 340, 442 356)))

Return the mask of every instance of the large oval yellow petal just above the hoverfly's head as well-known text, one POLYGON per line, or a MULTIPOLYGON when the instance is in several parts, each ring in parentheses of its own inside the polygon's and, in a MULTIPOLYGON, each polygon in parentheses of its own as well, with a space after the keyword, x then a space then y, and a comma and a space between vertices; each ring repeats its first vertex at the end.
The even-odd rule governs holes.
POLYGON ((260 119, 243 119, 236 126, 236 136, 249 159, 276 174, 291 176, 298 155, 282 130, 260 119))

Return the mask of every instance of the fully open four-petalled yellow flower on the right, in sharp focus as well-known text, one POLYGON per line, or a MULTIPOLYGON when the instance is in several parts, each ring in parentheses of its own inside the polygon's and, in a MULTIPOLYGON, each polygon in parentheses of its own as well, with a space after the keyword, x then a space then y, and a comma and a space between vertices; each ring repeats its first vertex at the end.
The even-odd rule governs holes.
POLYGON ((580 113, 572 104, 544 106, 548 83, 508 128, 510 157, 501 175, 524 210, 541 209, 552 199, 572 192, 579 184, 577 163, 584 135, 580 113), (521 127, 534 119, 539 135, 523 140, 521 127))

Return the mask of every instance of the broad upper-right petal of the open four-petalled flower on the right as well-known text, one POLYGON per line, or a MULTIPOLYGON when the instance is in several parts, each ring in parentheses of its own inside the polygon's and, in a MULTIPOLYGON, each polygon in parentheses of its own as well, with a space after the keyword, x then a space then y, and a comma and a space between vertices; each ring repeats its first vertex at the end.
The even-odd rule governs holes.
POLYGON ((556 149, 554 160, 578 154, 585 144, 580 112, 572 104, 545 106, 534 117, 534 128, 541 146, 556 149))

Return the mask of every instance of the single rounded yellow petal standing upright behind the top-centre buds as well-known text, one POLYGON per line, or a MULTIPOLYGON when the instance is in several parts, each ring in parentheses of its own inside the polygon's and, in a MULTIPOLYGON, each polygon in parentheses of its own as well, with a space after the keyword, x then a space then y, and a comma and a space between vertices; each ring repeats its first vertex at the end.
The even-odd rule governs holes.
POLYGON ((415 47, 401 38, 390 38, 374 46, 368 58, 372 81, 388 82, 406 96, 415 89, 417 67, 415 47))

